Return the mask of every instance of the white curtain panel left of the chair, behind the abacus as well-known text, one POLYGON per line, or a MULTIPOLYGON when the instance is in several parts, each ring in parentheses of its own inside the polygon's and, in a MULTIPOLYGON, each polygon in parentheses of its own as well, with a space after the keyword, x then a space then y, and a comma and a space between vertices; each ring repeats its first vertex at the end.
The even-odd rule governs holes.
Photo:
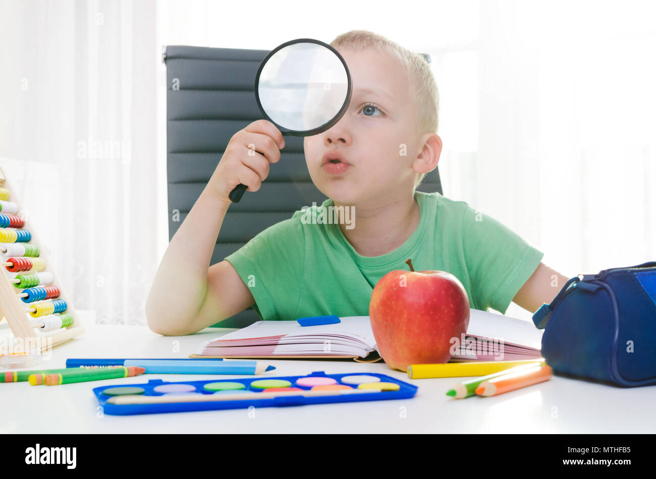
POLYGON ((155 2, 0 8, 0 166, 75 307, 144 324, 158 261, 155 2))

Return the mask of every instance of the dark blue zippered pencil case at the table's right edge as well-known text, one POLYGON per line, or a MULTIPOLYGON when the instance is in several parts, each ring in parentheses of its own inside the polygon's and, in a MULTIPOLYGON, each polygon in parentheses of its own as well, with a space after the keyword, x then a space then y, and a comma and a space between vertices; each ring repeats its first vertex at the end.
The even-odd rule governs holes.
POLYGON ((555 372, 656 384, 656 261, 571 278, 533 322, 555 372))

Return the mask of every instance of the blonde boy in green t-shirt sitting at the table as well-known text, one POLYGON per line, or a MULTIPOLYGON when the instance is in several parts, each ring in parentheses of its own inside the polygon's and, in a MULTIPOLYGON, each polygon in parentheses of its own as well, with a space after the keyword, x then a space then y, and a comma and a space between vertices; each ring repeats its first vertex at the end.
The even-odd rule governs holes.
POLYGON ((351 73, 350 107, 335 126, 304 138, 312 182, 329 199, 208 269, 228 194, 239 183, 257 191, 284 147, 268 121, 237 132, 161 261, 146 302, 150 328, 191 334, 251 305, 264 320, 368 315, 373 287, 388 271, 407 270, 406 259, 417 271, 455 275, 472 308, 504 313, 513 300, 533 312, 550 302, 567 278, 541 263, 542 252, 466 202, 415 191, 442 146, 428 64, 370 31, 331 45, 351 73), (263 154, 249 155, 249 144, 263 154), (330 206, 338 224, 314 221, 330 206))

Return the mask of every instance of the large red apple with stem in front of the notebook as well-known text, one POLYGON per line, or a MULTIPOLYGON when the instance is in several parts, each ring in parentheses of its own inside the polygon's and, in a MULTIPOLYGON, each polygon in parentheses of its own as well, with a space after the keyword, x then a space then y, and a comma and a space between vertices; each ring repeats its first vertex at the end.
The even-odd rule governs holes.
POLYGON ((469 297, 446 271, 390 271, 373 288, 369 319, 380 356, 391 368, 448 362, 451 338, 469 326, 469 297))

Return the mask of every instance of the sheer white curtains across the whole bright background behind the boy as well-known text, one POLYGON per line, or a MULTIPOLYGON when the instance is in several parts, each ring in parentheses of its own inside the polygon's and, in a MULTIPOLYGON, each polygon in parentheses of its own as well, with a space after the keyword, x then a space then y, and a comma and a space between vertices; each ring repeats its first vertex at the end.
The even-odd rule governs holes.
POLYGON ((33 217, 46 210, 41 235, 75 304, 100 322, 144 323, 168 242, 163 45, 270 49, 369 29, 428 53, 447 197, 502 221, 567 277, 656 259, 651 2, 0 5, 0 155, 45 175, 41 187, 27 175, 24 196, 33 217), (104 157, 82 158, 96 140, 104 157))

